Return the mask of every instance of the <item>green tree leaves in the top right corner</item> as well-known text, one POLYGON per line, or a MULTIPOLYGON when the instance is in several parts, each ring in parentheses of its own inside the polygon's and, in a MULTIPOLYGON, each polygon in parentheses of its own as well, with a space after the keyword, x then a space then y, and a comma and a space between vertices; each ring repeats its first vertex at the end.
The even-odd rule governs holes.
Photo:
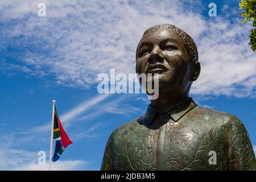
POLYGON ((250 42, 251 49, 255 51, 256 49, 256 0, 242 0, 239 4, 240 10, 244 11, 240 14, 243 18, 242 23, 252 22, 253 28, 250 30, 251 34, 250 42))

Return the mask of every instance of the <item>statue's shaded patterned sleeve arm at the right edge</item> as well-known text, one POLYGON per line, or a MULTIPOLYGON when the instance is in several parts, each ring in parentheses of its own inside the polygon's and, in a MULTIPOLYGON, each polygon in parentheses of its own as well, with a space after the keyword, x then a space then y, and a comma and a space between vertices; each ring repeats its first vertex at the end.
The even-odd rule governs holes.
POLYGON ((237 117, 229 122, 229 170, 256 170, 256 160, 249 134, 237 117))

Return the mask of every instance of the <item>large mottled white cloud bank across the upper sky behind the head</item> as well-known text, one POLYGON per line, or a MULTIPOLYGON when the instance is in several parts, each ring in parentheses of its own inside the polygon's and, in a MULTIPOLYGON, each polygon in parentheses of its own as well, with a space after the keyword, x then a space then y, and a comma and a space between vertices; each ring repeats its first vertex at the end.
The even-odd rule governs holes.
MULTIPOLYGON (((203 17, 200 9, 207 7, 199 1, 45 2, 47 16, 39 18, 36 1, 1 1, 0 48, 28 74, 53 75, 57 84, 89 89, 97 74, 110 68, 133 73, 143 31, 173 23, 187 31, 199 49, 202 69, 193 94, 255 97, 256 55, 248 45, 250 26, 239 19, 203 17), (189 8, 193 6, 197 11, 189 8), (8 52, 11 48, 22 53, 8 52)), ((6 60, 3 64, 15 68, 6 60)))

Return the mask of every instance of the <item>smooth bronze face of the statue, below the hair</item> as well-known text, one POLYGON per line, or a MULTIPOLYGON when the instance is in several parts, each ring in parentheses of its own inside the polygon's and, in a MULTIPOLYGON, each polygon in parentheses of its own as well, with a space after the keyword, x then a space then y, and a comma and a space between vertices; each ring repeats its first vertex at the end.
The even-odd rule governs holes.
POLYGON ((159 74, 159 97, 161 93, 183 94, 189 90, 191 61, 187 49, 177 33, 171 28, 148 32, 141 39, 136 57, 136 72, 152 73, 147 82, 159 74))

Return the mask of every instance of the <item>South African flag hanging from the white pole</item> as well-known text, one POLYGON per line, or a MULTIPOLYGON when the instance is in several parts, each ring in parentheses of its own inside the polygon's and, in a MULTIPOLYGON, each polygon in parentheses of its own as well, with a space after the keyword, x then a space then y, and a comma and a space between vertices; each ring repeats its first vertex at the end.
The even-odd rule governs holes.
POLYGON ((68 138, 68 135, 65 133, 61 125, 60 119, 56 112, 56 108, 54 108, 53 139, 56 140, 56 146, 52 162, 56 162, 60 158, 60 155, 63 153, 65 148, 67 148, 69 144, 73 143, 68 138))

